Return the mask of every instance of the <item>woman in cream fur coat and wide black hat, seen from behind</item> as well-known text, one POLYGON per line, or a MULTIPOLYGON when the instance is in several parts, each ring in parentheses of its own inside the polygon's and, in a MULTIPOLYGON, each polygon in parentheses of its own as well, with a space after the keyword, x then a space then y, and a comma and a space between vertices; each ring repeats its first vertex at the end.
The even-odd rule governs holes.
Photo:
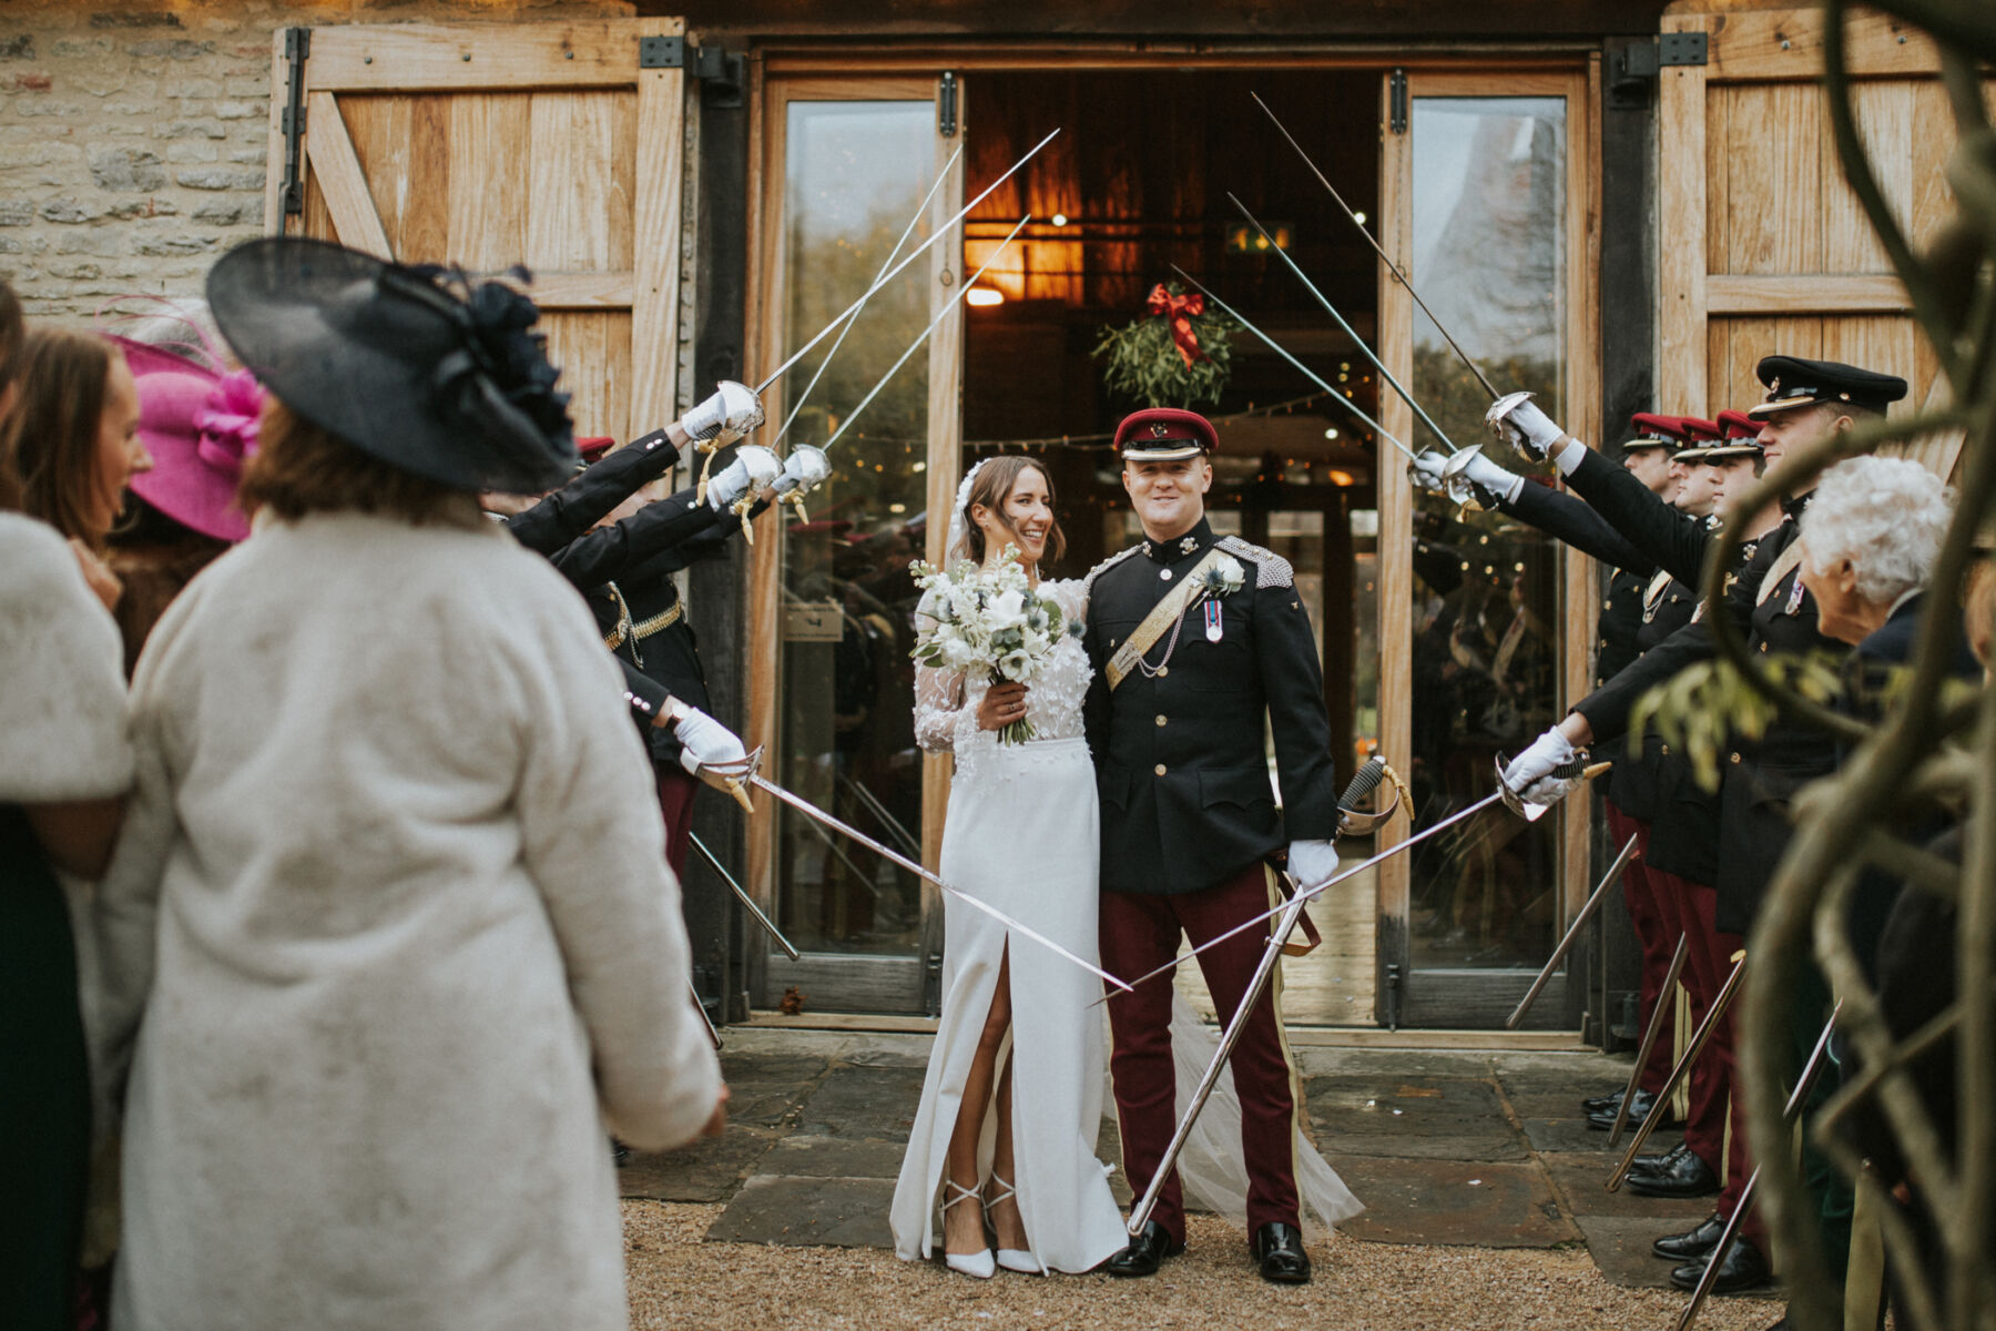
POLYGON ((723 1088, 617 666, 477 509, 575 465, 537 313, 285 237, 208 293, 269 401, 134 680, 114 1325, 621 1331, 603 1131, 723 1088))

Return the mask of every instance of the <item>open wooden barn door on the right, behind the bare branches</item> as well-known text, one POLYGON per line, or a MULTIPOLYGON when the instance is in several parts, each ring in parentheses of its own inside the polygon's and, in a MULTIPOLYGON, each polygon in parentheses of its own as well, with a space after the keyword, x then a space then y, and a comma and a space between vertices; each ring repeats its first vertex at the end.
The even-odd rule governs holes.
MULTIPOLYGON (((1812 8, 1665 18, 1665 42, 1707 40, 1665 66, 1659 100, 1659 373, 1665 403, 1715 415, 1762 395, 1754 363, 1788 353, 1904 375, 1894 413, 1946 391, 1904 287, 1844 184, 1812 8)), ((1914 247, 1948 218, 1954 116, 1918 30, 1848 22, 1858 130, 1914 247)), ((1948 475, 1960 439, 1910 449, 1948 475)))

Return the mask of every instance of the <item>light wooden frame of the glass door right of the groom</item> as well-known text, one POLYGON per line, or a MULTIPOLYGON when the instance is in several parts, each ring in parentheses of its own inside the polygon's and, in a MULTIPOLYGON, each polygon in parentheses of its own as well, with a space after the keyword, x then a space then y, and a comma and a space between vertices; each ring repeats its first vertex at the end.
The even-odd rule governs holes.
MULTIPOLYGON (((1391 118, 1391 72, 1379 82, 1379 122, 1391 118)), ((1405 88, 1407 132, 1381 136, 1379 150, 1379 243, 1393 261, 1421 283, 1413 271, 1413 102, 1435 96, 1559 96, 1567 102, 1567 317, 1565 359, 1567 419, 1579 439, 1601 439, 1601 307, 1597 277, 1601 261, 1601 58, 1591 54, 1585 68, 1569 72, 1515 70, 1409 70, 1405 88)), ((1669 212, 1669 210, 1665 210, 1669 212)), ((1381 265, 1379 351, 1403 383, 1413 377, 1413 299, 1381 265)), ((1397 395, 1381 393, 1379 423, 1401 439, 1413 439, 1413 411, 1397 395)), ((1469 447, 1477 441, 1457 441, 1469 447)), ((1487 443, 1487 441, 1483 441, 1487 443)), ((1407 754, 1413 744, 1413 565, 1389 561, 1387 551, 1413 549, 1413 487, 1403 467, 1379 465, 1379 746, 1385 754, 1407 754)), ((1559 655, 1561 698, 1587 692, 1593 678, 1593 623, 1601 591, 1595 567, 1561 549, 1563 631, 1559 655)), ((1589 838, 1593 802, 1565 800, 1559 816, 1559 900, 1563 916, 1579 908, 1589 888, 1589 838)), ((1379 834, 1387 848, 1407 838, 1411 810, 1393 814, 1379 834)), ((1381 1024, 1397 1026, 1417 1014, 1411 994, 1409 910, 1411 882, 1407 856, 1379 866, 1377 888, 1377 976, 1373 1010, 1381 1024)), ((1503 972, 1475 972, 1499 976, 1503 972)), ((1487 986, 1485 986, 1487 988, 1487 986)), ((1525 986, 1517 986, 1523 994, 1525 986)), ((1517 994, 1511 996, 1515 1002, 1517 994)), ((1559 1012, 1561 996, 1541 1000, 1543 1012, 1559 1012)), ((1509 1006, 1503 994, 1479 996, 1479 1006, 1509 1006), (1487 1002, 1485 1002, 1487 1000, 1487 1002)), ((1451 1008, 1461 1010, 1453 1002, 1451 1008)), ((1563 1020, 1563 1018, 1561 1018, 1563 1020)))

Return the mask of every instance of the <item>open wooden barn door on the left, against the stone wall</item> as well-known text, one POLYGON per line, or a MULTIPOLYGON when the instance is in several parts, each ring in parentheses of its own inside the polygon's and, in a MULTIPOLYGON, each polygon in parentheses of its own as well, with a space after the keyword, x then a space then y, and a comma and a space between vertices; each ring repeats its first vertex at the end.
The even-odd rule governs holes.
POLYGON ((265 229, 525 263, 577 433, 665 425, 687 341, 683 34, 677 18, 279 30, 265 229))

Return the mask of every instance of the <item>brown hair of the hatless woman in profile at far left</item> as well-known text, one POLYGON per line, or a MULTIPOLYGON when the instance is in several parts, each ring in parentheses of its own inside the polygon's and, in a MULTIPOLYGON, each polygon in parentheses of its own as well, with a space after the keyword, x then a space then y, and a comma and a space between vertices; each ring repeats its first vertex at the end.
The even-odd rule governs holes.
POLYGON ((90 333, 34 329, 22 339, 20 401, 6 423, 0 459, 20 487, 20 511, 94 551, 104 531, 90 503, 98 471, 98 431, 118 349, 90 333))

